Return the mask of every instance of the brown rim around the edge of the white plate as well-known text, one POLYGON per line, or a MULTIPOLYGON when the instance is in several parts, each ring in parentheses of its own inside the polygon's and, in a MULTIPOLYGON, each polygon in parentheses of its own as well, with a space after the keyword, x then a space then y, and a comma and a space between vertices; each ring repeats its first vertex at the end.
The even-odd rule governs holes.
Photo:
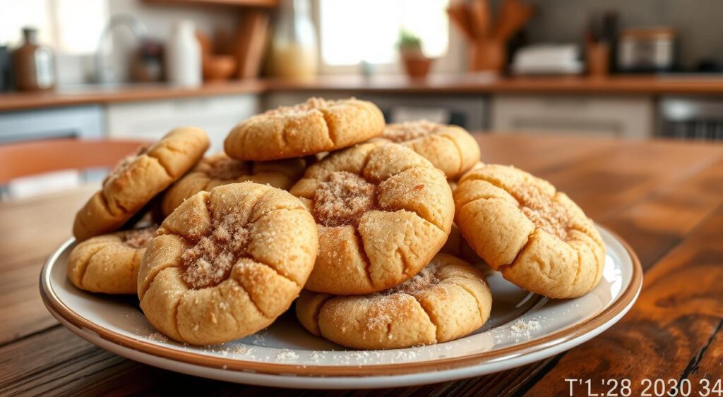
MULTIPOLYGON (((596 225, 600 227, 599 225, 596 225)), ((601 227, 602 228, 602 227, 601 227)), ((48 279, 50 278, 50 272, 48 266, 54 263, 61 253, 73 243, 73 239, 67 240, 63 243, 46 261, 43 266, 43 270, 40 272, 40 296, 43 298, 48 310, 54 311, 61 318, 64 318, 73 326, 79 329, 87 328, 93 331, 101 339, 132 349, 137 352, 150 354, 156 357, 164 359, 171 359, 178 362, 184 362, 191 365, 199 365, 202 367, 210 367, 223 369, 228 371, 238 372, 254 372, 267 375, 295 375, 304 377, 359 377, 359 376, 380 376, 380 375, 408 375, 416 373, 424 373, 429 371, 440 371, 440 370, 454 370, 461 367, 470 367, 472 365, 482 364, 491 359, 499 360, 507 357, 519 357, 524 354, 530 354, 537 352, 540 346, 550 348, 563 344, 567 341, 571 341, 580 336, 583 336, 590 331, 593 331, 599 326, 609 322, 616 315, 620 314, 630 305, 635 297, 640 292, 643 284, 643 269, 641 267, 638 256, 633 252, 630 245, 625 240, 620 238, 614 232, 604 229, 610 235, 620 242, 630 256, 630 260, 633 262, 633 274, 630 277, 630 284, 625 289, 620 297, 615 302, 612 302, 607 308, 602 310, 601 313, 589 318, 583 323, 575 326, 570 326, 562 331, 557 331, 547 336, 543 336, 540 339, 534 339, 532 341, 526 341, 515 346, 505 347, 504 349, 495 350, 493 352, 482 352, 477 354, 471 354, 465 357, 450 357, 447 359, 432 359, 420 362, 405 362, 395 364, 380 364, 380 365, 348 365, 348 366, 334 366, 334 365, 296 365, 292 363, 288 364, 276 364, 270 362, 253 362, 244 361, 242 359, 231 359, 224 357, 212 357, 204 354, 197 354, 193 352, 180 352, 177 349, 171 349, 166 346, 158 346, 150 344, 146 341, 140 341, 133 339, 129 336, 119 335, 108 328, 98 326, 85 318, 82 318, 79 314, 75 313, 72 309, 67 307, 61 302, 58 297, 54 294, 53 290, 49 287, 48 279)))

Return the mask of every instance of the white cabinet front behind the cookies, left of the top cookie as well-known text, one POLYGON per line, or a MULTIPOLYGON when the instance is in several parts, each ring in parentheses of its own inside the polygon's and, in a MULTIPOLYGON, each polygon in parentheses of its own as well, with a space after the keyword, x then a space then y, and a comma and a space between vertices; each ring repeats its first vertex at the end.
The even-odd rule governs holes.
POLYGON ((223 150, 228 131, 257 113, 256 95, 194 97, 108 105, 108 135, 116 138, 158 139, 177 126, 203 128, 211 139, 210 153, 223 150))

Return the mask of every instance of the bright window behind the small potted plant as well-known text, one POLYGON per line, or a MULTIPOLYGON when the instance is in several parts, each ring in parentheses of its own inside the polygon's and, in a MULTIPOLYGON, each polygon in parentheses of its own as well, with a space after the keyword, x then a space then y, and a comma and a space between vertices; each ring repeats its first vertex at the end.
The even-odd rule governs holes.
POLYGON ((395 64, 402 29, 422 39, 425 55, 445 56, 448 4, 449 0, 318 0, 322 70, 348 69, 361 61, 395 64))

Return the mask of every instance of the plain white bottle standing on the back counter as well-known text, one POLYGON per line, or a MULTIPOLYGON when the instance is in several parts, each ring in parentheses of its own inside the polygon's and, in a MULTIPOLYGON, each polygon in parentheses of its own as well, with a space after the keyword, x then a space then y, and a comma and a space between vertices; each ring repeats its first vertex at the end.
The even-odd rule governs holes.
POLYGON ((168 82, 174 85, 201 85, 201 47, 193 21, 182 19, 174 25, 166 47, 166 74, 168 82))

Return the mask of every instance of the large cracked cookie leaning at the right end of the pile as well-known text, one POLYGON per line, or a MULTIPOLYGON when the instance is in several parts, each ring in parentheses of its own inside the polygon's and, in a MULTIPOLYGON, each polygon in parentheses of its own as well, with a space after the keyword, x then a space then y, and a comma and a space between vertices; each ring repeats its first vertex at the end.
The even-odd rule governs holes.
POLYGON ((485 165, 454 191, 455 223, 510 282, 547 297, 578 297, 602 276, 599 232, 565 193, 515 167, 485 165))

